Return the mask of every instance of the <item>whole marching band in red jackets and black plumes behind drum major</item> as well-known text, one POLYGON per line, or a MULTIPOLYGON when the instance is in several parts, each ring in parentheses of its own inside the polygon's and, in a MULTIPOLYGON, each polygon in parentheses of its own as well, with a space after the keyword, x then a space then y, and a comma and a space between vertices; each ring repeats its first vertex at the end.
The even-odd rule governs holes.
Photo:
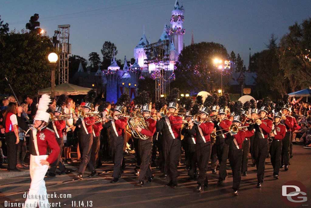
MULTIPOLYGON (((174 90, 177 93, 170 94, 167 104, 162 104, 162 108, 156 113, 151 110, 151 98, 146 92, 134 100, 137 108, 132 113, 127 113, 126 106, 130 99, 125 98, 125 95, 122 100, 118 100, 113 110, 110 109, 110 103, 105 103, 94 112, 94 95, 90 92, 83 109, 68 117, 66 114, 62 115, 65 99, 58 98, 56 110, 50 114, 52 130, 49 131, 54 132, 58 147, 62 150, 65 120, 73 119, 73 125, 79 128, 82 157, 77 179, 83 179, 86 167, 91 172, 90 177, 96 174, 102 129, 109 130, 107 135, 114 149, 111 183, 117 183, 123 173, 123 153, 129 135, 138 141, 135 145, 136 157, 140 161, 135 173, 138 175, 138 186, 144 186, 145 181, 152 182, 154 178, 150 160, 153 143, 158 139, 157 145, 161 144, 159 152, 162 149, 164 156, 158 168, 163 166, 161 172, 167 179, 165 186, 173 188, 178 187, 178 165, 182 149, 185 152, 189 180, 197 180, 198 192, 208 186, 209 164, 212 174, 217 174, 217 161, 217 184, 223 184, 228 175, 226 165, 229 159, 233 175, 232 189, 234 195, 238 196, 241 175, 247 176, 249 152, 256 165, 258 188, 264 181, 268 152, 275 179, 279 178, 283 164, 285 171, 288 170, 290 136, 295 125, 293 117, 289 116, 290 105, 286 101, 273 104, 269 98, 265 98, 242 104, 240 101, 230 102, 228 94, 218 97, 215 93, 209 95, 203 103, 199 96, 195 102, 192 98, 179 99, 178 89, 174 90)), ((53 161, 49 160, 51 168, 46 173, 47 177, 55 176, 57 166, 61 174, 66 171, 61 151, 54 154, 55 152, 53 161)))

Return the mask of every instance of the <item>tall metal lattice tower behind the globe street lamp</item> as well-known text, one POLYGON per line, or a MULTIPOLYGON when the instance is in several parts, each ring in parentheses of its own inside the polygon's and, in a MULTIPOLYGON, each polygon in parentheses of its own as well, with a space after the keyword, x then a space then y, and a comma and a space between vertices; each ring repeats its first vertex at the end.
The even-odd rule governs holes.
POLYGON ((59 53, 58 62, 58 84, 68 83, 69 54, 71 54, 71 44, 69 44, 70 25, 58 25, 58 44, 59 53))

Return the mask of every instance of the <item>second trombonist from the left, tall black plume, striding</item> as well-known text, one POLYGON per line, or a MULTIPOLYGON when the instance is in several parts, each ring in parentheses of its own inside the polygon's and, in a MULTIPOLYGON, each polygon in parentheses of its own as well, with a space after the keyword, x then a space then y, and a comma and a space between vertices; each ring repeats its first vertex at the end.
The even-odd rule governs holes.
POLYGON ((78 170, 77 179, 83 179, 83 173, 88 166, 88 169, 91 171, 90 176, 94 176, 96 174, 95 167, 93 163, 89 163, 91 159, 91 151, 92 151, 92 144, 93 144, 93 125, 95 119, 92 116, 88 116, 91 112, 91 109, 94 107, 92 102, 96 96, 96 92, 94 90, 90 90, 87 94, 86 104, 83 107, 84 110, 84 118, 79 118, 78 120, 74 120, 76 126, 80 125, 80 141, 81 141, 81 148, 82 148, 82 161, 78 170))

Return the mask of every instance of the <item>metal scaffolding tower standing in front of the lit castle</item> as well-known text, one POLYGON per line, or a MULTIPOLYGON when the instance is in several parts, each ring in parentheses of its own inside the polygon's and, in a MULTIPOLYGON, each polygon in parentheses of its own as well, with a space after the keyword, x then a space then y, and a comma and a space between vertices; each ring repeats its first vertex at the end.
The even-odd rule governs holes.
POLYGON ((156 101, 158 101, 161 95, 166 95, 168 89, 168 74, 169 70, 169 40, 159 41, 144 46, 144 52, 146 53, 146 59, 144 59, 144 69, 147 70, 149 64, 155 64, 156 80, 156 101))

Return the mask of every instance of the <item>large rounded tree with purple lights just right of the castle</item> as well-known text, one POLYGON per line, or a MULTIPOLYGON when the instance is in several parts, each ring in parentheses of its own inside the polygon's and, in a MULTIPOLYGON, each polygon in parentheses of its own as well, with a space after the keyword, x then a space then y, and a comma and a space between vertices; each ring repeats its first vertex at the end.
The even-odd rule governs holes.
MULTIPOLYGON (((183 92, 192 89, 194 93, 211 91, 213 81, 220 86, 220 71, 213 65, 215 57, 223 60, 229 57, 225 47, 219 43, 201 42, 186 46, 176 61, 176 80, 171 83, 171 87, 178 87, 183 92)), ((224 80, 225 77, 228 76, 223 76, 224 80)))

